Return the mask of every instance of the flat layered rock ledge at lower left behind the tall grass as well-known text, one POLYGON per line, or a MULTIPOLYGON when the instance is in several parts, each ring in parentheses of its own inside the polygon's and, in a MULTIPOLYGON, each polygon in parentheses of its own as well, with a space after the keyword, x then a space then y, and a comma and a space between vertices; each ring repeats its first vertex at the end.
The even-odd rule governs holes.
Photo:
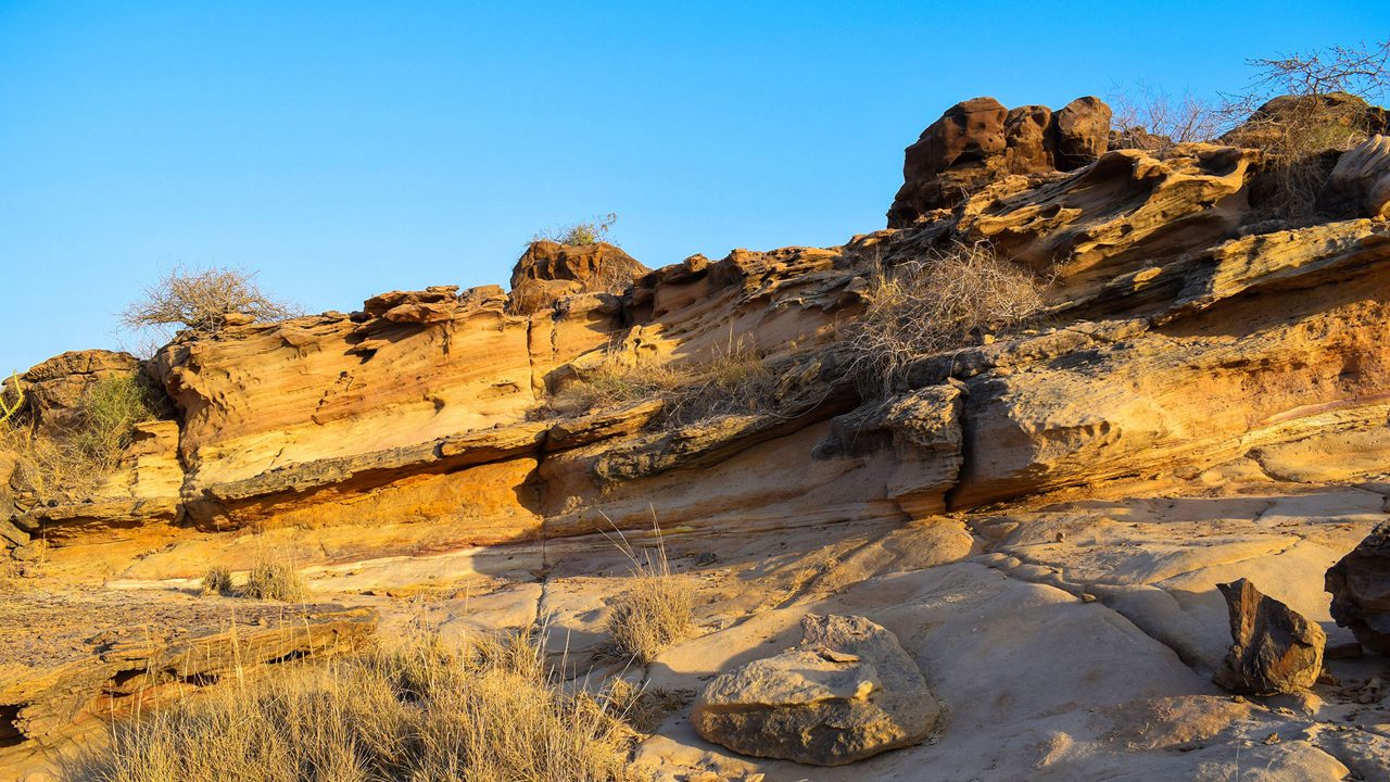
POLYGON ((363 648, 377 616, 341 605, 238 605, 128 597, 26 594, 0 612, 0 774, 38 743, 53 746, 93 717, 256 676, 265 667, 363 648))

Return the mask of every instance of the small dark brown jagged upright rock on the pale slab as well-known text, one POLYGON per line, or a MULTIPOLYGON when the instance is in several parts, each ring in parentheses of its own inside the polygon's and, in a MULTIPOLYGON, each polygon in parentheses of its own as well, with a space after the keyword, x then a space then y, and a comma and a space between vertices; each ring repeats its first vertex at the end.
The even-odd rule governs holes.
POLYGON ((1327 643, 1322 628, 1247 579, 1216 589, 1226 597, 1232 644, 1213 682, 1233 693, 1273 696, 1318 680, 1327 643))

